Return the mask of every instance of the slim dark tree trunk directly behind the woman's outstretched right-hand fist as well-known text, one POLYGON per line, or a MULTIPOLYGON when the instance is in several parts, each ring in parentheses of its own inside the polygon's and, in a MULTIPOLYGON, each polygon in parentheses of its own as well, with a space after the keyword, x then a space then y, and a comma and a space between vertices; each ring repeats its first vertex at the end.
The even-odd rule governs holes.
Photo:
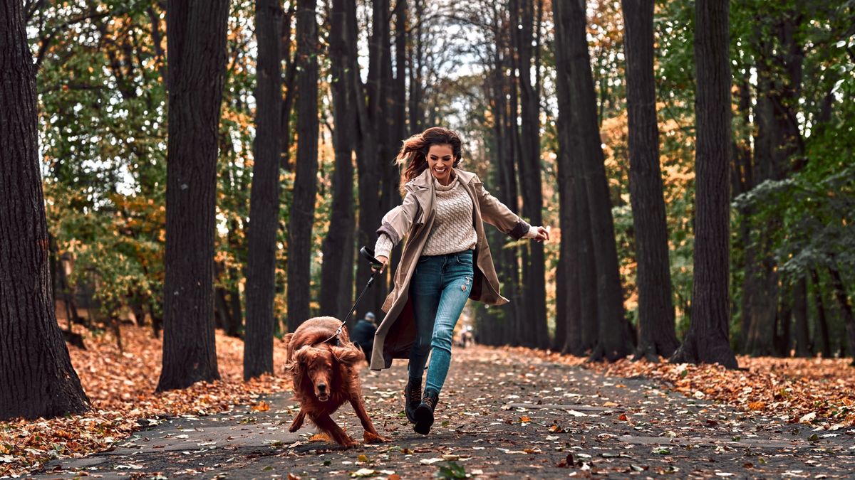
MULTIPOLYGON (((532 85, 532 42, 534 41, 534 5, 532 2, 512 0, 511 8, 518 9, 519 23, 511 25, 516 50, 516 69, 519 74, 521 135, 519 157, 522 187, 522 215, 532 225, 542 225, 543 192, 540 186, 540 95, 532 85)), ((516 15, 514 15, 516 16, 516 15)), ((513 18, 513 17, 512 17, 513 18)), ((535 65, 535 68, 540 66, 535 65)), ((522 264, 522 290, 527 298, 527 328, 532 333, 530 347, 547 348, 549 334, 546 329, 546 293, 543 243, 528 243, 528 255, 522 264)))

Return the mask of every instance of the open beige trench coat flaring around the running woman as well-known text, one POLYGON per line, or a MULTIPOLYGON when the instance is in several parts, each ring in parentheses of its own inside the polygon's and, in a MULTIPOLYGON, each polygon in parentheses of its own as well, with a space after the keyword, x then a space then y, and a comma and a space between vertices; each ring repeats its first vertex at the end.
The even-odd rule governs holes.
MULTIPOLYGON (((502 305, 508 302, 498 293, 498 276, 492 265, 490 246, 484 234, 484 223, 496 226, 498 230, 514 237, 522 238, 528 232, 529 225, 504 206, 495 197, 484 190, 484 184, 475 173, 454 169, 463 189, 472 198, 472 223, 478 241, 475 244, 475 268, 472 289, 469 298, 483 301, 488 305, 502 305)), ((382 220, 377 231, 385 233, 398 244, 404 237, 407 242, 401 261, 395 271, 395 287, 383 303, 386 317, 374 334, 374 350, 371 353, 371 370, 382 370, 392 366, 392 359, 410 358, 410 348, 416 341, 416 322, 410 301, 410 279, 416 271, 416 263, 422 255, 433 226, 433 202, 436 193, 433 190, 433 175, 425 170, 404 187, 404 202, 392 208, 382 220)))

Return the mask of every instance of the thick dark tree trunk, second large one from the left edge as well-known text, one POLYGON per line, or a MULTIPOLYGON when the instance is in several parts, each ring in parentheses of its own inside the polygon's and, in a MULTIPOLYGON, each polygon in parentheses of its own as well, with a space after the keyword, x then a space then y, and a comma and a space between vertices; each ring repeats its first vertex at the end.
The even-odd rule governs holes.
POLYGON ((228 0, 169 0, 166 278, 157 390, 220 378, 214 337, 217 132, 228 0))

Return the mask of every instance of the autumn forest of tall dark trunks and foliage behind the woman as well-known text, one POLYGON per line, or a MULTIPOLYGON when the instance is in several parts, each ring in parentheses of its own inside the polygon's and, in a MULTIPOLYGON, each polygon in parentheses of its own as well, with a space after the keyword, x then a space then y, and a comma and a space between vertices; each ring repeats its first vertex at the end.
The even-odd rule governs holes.
POLYGON ((855 356, 852 0, 3 0, 0 30, 0 419, 87 410, 66 342, 123 329, 158 392, 221 378, 215 331, 280 372, 430 126, 551 230, 486 227, 510 303, 469 302, 477 342, 855 356))

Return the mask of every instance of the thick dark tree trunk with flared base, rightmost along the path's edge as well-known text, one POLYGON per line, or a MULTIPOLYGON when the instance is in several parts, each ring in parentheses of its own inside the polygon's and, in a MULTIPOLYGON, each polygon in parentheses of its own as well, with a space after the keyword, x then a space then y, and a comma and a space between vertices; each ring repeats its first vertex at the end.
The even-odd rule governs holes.
POLYGON ((730 349, 730 63, 728 0, 695 3, 695 254, 692 321, 672 362, 736 368, 730 349))

